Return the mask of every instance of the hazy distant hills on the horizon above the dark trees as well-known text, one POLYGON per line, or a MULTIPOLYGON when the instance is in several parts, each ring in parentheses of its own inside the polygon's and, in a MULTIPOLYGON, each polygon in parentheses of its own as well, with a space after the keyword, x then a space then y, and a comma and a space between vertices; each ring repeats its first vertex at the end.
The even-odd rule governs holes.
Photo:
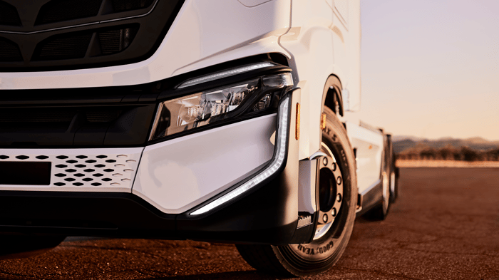
POLYGON ((434 148, 441 148, 446 146, 451 146, 455 148, 460 147, 470 147, 473 150, 492 150, 499 147, 499 141, 489 141, 480 137, 468 138, 468 139, 455 139, 455 138, 440 138, 436 140, 428 140, 423 138, 417 138, 413 136, 393 136, 393 150, 396 153, 402 152, 403 150, 410 149, 412 147, 428 146, 434 148))

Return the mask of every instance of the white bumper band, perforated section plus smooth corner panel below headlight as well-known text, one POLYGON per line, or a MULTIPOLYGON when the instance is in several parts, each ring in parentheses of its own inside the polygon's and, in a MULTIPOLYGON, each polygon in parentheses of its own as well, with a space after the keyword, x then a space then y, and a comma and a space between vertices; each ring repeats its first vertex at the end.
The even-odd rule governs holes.
POLYGON ((178 214, 271 160, 276 120, 276 114, 266 115, 145 148, 1 149, 0 161, 51 162, 51 182, 0 185, 0 190, 132 192, 178 214))

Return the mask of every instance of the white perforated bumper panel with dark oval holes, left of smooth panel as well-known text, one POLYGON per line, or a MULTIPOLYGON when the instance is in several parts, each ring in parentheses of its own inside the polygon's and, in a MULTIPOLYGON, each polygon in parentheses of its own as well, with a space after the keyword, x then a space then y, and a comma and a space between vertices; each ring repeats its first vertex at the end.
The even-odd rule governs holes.
MULTIPOLYGON (((51 183, 48 186, 51 189, 131 190, 142 150, 143 148, 2 150, 0 162, 51 162, 51 183)), ((43 190, 43 187, 39 188, 43 190)), ((13 189, 19 189, 19 186, 14 186, 13 189)))

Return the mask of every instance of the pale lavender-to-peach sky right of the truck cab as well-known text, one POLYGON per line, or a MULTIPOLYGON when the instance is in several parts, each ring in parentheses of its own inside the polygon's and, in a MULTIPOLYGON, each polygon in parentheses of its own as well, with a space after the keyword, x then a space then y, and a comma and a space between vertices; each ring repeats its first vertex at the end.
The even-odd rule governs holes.
POLYGON ((499 0, 361 0, 360 118, 499 140, 499 0))

